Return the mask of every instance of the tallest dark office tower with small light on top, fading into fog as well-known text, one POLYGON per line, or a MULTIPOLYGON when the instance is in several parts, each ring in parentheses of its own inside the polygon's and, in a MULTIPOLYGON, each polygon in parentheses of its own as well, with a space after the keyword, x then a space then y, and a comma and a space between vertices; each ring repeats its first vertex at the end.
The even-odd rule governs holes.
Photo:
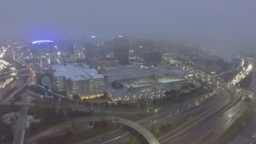
POLYGON ((114 38, 114 56, 121 64, 129 63, 129 39, 118 36, 114 38))

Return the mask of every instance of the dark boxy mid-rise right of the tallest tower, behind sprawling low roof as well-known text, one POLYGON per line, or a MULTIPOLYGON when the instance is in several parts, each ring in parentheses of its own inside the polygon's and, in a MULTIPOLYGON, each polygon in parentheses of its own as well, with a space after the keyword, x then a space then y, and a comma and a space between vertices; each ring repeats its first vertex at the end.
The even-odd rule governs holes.
POLYGON ((159 65, 162 61, 161 52, 144 52, 143 65, 159 65))

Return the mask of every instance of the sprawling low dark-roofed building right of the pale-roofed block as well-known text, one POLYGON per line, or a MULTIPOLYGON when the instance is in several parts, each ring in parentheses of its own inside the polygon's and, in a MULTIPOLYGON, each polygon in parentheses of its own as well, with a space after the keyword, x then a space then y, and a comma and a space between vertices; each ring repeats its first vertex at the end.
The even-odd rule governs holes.
MULTIPOLYGON (((108 77, 108 85, 115 89, 137 92, 162 92, 180 89, 187 85, 193 75, 183 70, 172 70, 160 67, 139 65, 117 65, 106 67, 102 74, 108 77)), ((114 95, 114 94, 112 94, 114 95)), ((129 94, 125 94, 129 96, 129 94)), ((134 95, 133 95, 134 96, 134 95)))

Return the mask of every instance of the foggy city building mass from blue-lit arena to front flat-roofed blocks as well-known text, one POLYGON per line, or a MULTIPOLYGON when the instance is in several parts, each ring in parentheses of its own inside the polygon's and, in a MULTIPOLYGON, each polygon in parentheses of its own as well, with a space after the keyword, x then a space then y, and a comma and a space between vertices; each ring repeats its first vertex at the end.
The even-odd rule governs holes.
MULTIPOLYGON (((40 40, 15 45, 13 50, 15 59, 32 63, 37 73, 51 71, 53 83, 49 87, 54 92, 69 97, 77 94, 85 99, 101 97, 104 92, 112 97, 164 94, 191 82, 193 75, 175 70, 181 63, 194 65, 206 74, 217 74, 224 65, 223 58, 200 55, 194 49, 188 51, 187 47, 168 41, 130 41, 121 35, 105 41, 96 36, 82 42, 40 40), (172 52, 167 53, 170 47, 172 52)), ((235 69, 240 60, 232 60, 235 69)))

